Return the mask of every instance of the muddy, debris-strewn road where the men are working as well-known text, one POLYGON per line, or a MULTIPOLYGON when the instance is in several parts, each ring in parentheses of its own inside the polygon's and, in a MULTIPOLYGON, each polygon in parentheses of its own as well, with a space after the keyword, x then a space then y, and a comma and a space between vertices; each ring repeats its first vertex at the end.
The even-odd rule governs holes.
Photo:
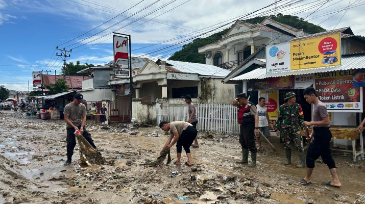
POLYGON ((278 143, 277 151, 259 152, 257 167, 249 168, 235 163, 241 155, 236 136, 202 138, 205 133, 199 133, 200 147, 191 149, 197 171, 174 164, 175 146, 171 164, 146 167, 143 163, 159 156, 163 131, 138 124, 108 127, 86 126, 107 164, 80 166, 77 144, 72 164, 63 166, 64 121, 2 111, 0 203, 365 203, 365 161, 354 164, 349 153, 332 152, 340 189, 321 185, 331 180, 321 160, 315 163, 313 184, 304 187, 298 181, 306 169, 296 168, 296 154, 291 165, 283 165, 284 149, 278 143), (270 198, 259 196, 256 186, 270 198))

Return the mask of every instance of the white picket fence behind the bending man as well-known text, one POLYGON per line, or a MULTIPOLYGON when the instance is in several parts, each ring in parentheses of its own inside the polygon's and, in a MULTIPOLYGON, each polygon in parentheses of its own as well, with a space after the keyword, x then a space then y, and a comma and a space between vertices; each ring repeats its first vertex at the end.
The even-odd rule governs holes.
MULTIPOLYGON (((156 104, 157 125, 161 121, 187 121, 187 104, 156 104)), ((230 104, 198 104, 197 129, 204 132, 238 135, 237 108, 230 104)))

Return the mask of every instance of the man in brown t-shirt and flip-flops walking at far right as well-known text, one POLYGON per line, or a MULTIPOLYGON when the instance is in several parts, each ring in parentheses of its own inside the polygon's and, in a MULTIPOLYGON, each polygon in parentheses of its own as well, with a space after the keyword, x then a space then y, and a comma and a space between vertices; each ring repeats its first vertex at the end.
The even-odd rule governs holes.
POLYGON ((318 99, 317 92, 315 92, 313 87, 304 89, 303 95, 309 104, 314 105, 313 121, 303 122, 303 125, 305 126, 313 125, 313 131, 310 133, 308 140, 313 139, 309 144, 306 157, 307 174, 304 179, 299 181, 299 183, 303 186, 307 186, 312 183, 310 181, 310 176, 313 173, 314 161, 321 156, 323 163, 327 164, 332 175, 331 182, 323 182, 322 184, 325 186, 339 188, 341 186, 341 182, 338 179, 336 165, 331 156, 330 141, 332 134, 329 130, 329 116, 326 105, 318 99))

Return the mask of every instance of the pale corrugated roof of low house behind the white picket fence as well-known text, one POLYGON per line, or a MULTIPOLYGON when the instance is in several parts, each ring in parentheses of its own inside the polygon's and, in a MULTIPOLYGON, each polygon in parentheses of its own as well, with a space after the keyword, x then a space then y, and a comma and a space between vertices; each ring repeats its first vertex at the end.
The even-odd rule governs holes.
POLYGON ((174 60, 164 60, 164 61, 166 61, 167 64, 172 65, 174 69, 177 69, 182 73, 197 73, 200 75, 212 76, 212 77, 226 77, 226 75, 230 73, 229 70, 208 64, 180 62, 174 60))

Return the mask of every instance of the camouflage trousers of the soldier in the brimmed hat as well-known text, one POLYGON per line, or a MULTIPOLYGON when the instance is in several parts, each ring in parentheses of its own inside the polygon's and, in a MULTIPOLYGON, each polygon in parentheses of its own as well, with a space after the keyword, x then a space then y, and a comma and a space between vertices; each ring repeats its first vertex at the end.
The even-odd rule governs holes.
POLYGON ((303 139, 300 134, 300 131, 293 130, 291 128, 281 129, 281 138, 284 141, 285 150, 290 150, 290 142, 293 141, 294 145, 297 147, 298 151, 302 152, 303 148, 303 139))

